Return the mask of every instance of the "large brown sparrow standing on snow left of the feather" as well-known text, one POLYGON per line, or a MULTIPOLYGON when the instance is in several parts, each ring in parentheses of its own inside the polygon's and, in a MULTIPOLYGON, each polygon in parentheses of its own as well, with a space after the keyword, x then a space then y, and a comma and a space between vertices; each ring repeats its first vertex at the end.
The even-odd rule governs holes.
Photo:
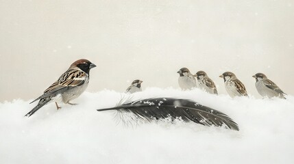
MULTIPOLYGON (((94 67, 95 64, 91 63, 87 59, 79 59, 73 62, 69 69, 66 70, 66 72, 64 72, 64 74, 62 74, 56 82, 44 91, 42 96, 36 98, 36 100, 39 100, 38 105, 29 111, 29 113, 25 116, 31 116, 38 111, 38 109, 53 101, 55 101, 57 109, 60 109, 57 102, 75 105, 70 101, 79 97, 79 95, 86 90, 89 83, 90 69, 94 67)), ((35 102, 36 100, 32 102, 35 102)))

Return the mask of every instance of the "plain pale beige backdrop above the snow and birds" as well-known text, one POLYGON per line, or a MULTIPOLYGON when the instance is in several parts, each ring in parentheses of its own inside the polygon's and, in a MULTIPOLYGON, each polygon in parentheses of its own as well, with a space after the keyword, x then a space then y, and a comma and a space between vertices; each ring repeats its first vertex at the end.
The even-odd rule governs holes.
POLYGON ((256 72, 293 95, 294 1, 1 1, 1 102, 40 96, 79 58, 97 65, 88 92, 176 88, 185 66, 221 94, 230 70, 256 97, 256 72))

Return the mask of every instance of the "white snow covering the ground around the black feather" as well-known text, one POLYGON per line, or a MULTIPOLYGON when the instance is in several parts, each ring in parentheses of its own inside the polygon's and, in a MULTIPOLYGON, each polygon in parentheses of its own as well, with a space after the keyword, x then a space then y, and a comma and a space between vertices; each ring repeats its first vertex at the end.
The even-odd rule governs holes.
MULTIPOLYGON (((149 87, 130 96, 195 100, 226 113, 240 131, 180 120, 125 125, 113 107, 128 94, 85 92, 78 105, 45 105, 30 118, 36 103, 0 103, 0 163, 293 163, 294 96, 230 98, 201 90, 149 87)), ((33 99, 32 99, 33 100, 33 99)))

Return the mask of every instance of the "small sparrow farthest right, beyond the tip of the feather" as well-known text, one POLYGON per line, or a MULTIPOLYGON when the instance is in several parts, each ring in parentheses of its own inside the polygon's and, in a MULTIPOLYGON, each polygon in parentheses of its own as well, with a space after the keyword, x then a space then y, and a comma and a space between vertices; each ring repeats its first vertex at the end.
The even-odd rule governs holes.
POLYGON ((257 73, 252 77, 256 79, 255 87, 261 96, 267 96, 268 98, 279 97, 286 99, 284 97, 286 94, 280 89, 280 87, 278 87, 278 85, 273 83, 273 81, 267 79, 265 74, 257 73))

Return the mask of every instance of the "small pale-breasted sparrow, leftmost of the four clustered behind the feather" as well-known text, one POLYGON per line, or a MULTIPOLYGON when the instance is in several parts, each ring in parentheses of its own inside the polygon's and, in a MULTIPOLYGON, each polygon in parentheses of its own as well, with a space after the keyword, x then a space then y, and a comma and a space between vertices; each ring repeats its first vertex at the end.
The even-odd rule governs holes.
POLYGON ((197 87, 197 81, 188 68, 181 68, 177 73, 180 74, 178 82, 182 90, 191 90, 193 87, 197 87))

